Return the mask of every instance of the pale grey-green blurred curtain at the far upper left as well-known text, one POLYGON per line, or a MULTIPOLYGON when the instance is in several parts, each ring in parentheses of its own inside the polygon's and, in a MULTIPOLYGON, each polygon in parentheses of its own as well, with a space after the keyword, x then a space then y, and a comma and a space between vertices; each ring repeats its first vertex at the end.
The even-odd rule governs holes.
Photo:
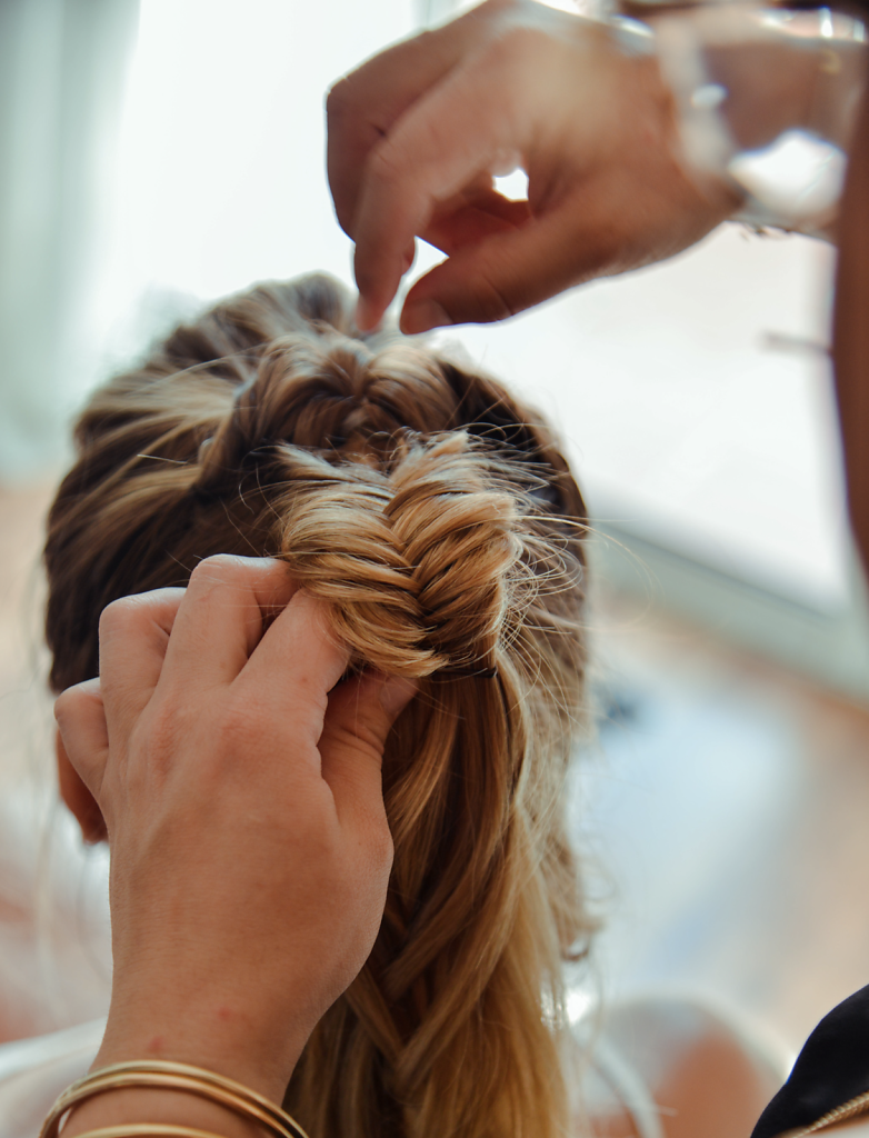
POLYGON ((0 479, 57 461, 138 0, 0 3, 0 479))

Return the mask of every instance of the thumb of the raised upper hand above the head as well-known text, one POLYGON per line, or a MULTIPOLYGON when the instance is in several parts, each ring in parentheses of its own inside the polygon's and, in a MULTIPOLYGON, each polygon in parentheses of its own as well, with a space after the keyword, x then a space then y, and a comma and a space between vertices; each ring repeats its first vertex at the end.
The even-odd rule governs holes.
POLYGON ((594 224, 584 213, 572 199, 460 249, 407 294, 402 331, 504 320, 607 271, 613 226, 594 224))

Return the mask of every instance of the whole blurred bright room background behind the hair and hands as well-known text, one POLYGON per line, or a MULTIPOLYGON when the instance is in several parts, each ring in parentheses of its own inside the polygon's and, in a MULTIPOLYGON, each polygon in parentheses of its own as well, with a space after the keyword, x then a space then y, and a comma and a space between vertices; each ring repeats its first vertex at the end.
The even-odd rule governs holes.
MULTIPOLYGON (((0 1039, 101 1014, 110 975, 106 858, 56 803, 40 648, 71 417, 205 302, 314 269, 351 283, 324 91, 460 7, 0 3, 0 1039)), ((795 1046, 869 982, 869 622, 833 259, 729 225, 444 337, 555 418, 594 521, 598 729, 571 810, 607 931, 576 1012, 701 989, 795 1046)))

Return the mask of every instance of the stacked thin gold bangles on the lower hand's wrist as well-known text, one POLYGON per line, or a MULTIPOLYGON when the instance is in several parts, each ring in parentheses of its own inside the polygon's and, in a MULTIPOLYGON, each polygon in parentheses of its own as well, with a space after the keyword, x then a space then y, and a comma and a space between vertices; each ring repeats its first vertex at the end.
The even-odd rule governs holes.
MULTIPOLYGON (((110 1090, 126 1090, 131 1087, 150 1087, 158 1090, 183 1090, 199 1098, 206 1098, 248 1122, 262 1127, 273 1138, 307 1138, 307 1135, 285 1111, 267 1098, 249 1090, 240 1082, 225 1079, 214 1071, 188 1066, 185 1063, 163 1061, 143 1063, 115 1063, 101 1067, 74 1082, 63 1092, 45 1119, 40 1138, 58 1138, 64 1116, 89 1098, 105 1095, 110 1090)), ((176 1127, 164 1122, 135 1122, 125 1125, 104 1127, 89 1130, 80 1138, 134 1138, 134 1136, 159 1136, 159 1138, 220 1138, 205 1130, 176 1127)))

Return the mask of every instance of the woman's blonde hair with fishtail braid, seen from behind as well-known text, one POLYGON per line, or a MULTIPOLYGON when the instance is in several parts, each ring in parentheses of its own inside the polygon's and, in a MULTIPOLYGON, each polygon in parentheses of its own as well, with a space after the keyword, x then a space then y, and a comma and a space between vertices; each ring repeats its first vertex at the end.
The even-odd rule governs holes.
POLYGON ((419 677, 382 926, 287 1104, 312 1138, 554 1138, 562 962, 591 931, 561 801, 582 502, 499 384, 349 312, 324 277, 262 284, 96 393, 49 517, 51 681, 97 674, 106 604, 217 552, 283 558, 357 666, 419 677))

